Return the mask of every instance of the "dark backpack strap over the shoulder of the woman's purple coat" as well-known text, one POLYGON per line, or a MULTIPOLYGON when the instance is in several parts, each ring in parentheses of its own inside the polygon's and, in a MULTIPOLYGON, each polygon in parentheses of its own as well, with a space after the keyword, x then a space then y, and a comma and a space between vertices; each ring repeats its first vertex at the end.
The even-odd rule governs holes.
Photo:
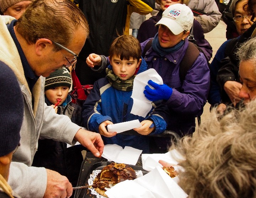
POLYGON ((199 56, 198 48, 191 42, 188 42, 188 47, 185 52, 184 58, 181 60, 180 63, 180 81, 183 83, 185 77, 187 75, 188 70, 192 67, 194 61, 196 61, 197 57, 199 56))

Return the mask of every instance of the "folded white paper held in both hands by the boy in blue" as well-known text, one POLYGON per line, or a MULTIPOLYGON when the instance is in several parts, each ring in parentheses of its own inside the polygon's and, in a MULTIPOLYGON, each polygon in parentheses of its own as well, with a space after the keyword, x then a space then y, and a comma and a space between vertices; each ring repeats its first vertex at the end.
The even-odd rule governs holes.
POLYGON ((142 125, 140 124, 139 120, 132 120, 132 121, 128 121, 128 122, 121 122, 121 123, 117 123, 117 124, 108 124, 107 128, 108 128, 108 132, 109 133, 122 133, 124 131, 130 130, 130 129, 134 129, 134 128, 139 128, 142 125))

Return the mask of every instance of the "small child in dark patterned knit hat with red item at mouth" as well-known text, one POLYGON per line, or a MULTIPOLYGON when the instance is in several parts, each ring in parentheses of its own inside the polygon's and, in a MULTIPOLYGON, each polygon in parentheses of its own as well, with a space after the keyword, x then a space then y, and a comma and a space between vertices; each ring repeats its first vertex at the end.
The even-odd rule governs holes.
MULTIPOLYGON (((68 68, 62 67, 46 77, 44 84, 45 102, 58 114, 68 116, 72 122, 81 126, 81 107, 71 102, 68 94, 71 76, 68 68)), ((64 142, 52 139, 39 139, 38 150, 32 166, 45 167, 66 176, 73 186, 78 181, 82 164, 81 145, 67 148, 64 142)))

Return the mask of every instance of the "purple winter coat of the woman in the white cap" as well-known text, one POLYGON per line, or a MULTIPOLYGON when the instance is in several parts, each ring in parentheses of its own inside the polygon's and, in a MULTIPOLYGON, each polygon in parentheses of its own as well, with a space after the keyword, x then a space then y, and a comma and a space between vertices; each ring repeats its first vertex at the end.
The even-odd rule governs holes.
MULTIPOLYGON (((141 43, 142 51, 146 43, 141 43)), ((206 58, 200 52, 198 58, 188 70, 185 80, 181 82, 179 76, 180 62, 188 47, 188 39, 176 52, 161 57, 152 47, 145 54, 148 69, 154 68, 162 77, 164 84, 173 88, 168 106, 170 117, 167 129, 183 136, 192 134, 195 130, 195 118, 201 116, 206 104, 210 87, 210 70, 206 58)))

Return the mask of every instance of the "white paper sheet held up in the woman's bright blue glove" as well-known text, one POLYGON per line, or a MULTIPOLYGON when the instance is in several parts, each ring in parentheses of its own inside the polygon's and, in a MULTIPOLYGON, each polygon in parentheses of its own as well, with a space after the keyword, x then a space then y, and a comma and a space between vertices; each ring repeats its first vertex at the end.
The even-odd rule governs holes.
MULTIPOLYGON (((138 74, 134 78, 133 92, 131 96, 133 98, 133 106, 130 113, 142 116, 144 118, 152 108, 152 101, 148 100, 143 93, 145 86, 148 85, 149 80, 152 80, 159 85, 164 84, 161 76, 156 72, 155 69, 148 69, 138 74)), ((154 89, 152 86, 150 86, 150 88, 154 89)))

